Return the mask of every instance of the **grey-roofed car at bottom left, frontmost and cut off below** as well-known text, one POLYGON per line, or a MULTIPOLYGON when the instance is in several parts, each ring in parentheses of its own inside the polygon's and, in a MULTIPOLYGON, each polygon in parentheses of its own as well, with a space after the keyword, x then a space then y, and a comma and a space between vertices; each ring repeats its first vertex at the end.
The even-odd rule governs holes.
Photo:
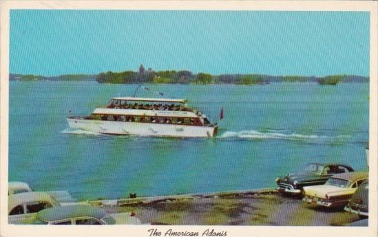
POLYGON ((141 225, 134 213, 107 214, 100 207, 67 205, 41 210, 33 224, 39 225, 141 225))

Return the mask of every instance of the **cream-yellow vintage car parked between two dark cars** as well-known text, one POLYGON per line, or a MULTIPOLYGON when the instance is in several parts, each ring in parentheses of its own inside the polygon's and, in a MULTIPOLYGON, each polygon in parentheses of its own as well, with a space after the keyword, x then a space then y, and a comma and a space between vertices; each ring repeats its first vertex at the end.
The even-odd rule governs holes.
POLYGON ((325 207, 344 206, 366 179, 368 172, 335 174, 324 185, 304 187, 303 201, 325 207))

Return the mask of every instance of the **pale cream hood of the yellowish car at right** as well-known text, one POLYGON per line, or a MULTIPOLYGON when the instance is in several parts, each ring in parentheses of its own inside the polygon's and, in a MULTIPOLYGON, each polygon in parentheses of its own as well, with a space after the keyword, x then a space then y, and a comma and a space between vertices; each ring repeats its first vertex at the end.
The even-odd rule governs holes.
POLYGON ((339 188, 332 185, 315 185, 304 187, 304 194, 307 196, 317 196, 319 198, 325 199, 326 194, 328 196, 341 196, 347 194, 353 194, 355 188, 339 188))

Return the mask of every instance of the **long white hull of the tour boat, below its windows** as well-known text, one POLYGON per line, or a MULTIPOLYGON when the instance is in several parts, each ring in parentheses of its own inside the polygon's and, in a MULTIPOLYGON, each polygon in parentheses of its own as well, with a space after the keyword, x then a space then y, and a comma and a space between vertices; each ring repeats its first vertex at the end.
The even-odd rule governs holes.
POLYGON ((67 122, 70 128, 110 135, 214 137, 218 131, 218 126, 187 126, 179 124, 85 120, 80 117, 67 117, 67 122))

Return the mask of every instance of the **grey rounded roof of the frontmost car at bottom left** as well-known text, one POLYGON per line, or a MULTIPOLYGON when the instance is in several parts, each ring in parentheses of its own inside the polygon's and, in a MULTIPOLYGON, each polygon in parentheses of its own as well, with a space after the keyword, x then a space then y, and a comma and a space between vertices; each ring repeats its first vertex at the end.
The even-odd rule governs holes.
POLYGON ((65 205, 52 207, 38 212, 38 217, 43 221, 58 221, 67 218, 90 216, 100 220, 106 216, 105 210, 91 205, 65 205))

